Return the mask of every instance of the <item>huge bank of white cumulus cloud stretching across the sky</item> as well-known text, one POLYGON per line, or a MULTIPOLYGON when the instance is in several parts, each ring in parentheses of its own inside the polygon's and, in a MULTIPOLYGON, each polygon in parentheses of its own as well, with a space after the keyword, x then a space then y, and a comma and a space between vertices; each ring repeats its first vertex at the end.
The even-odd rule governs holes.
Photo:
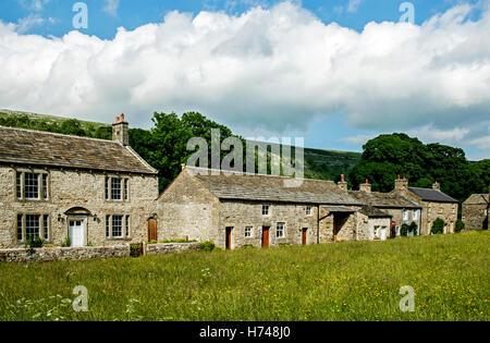
POLYGON ((125 112, 134 124, 199 110, 277 133, 344 113, 365 131, 478 139, 490 117, 490 11, 470 21, 471 10, 357 33, 284 2, 240 16, 171 12, 110 40, 25 36, 0 23, 0 106, 107 121, 125 112))

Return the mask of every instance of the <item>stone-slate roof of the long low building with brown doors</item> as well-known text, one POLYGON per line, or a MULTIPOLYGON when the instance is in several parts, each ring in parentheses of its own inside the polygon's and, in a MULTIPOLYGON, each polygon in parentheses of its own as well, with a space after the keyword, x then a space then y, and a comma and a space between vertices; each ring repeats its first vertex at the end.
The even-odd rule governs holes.
POLYGON ((332 181, 292 179, 272 175, 219 172, 212 175, 209 170, 188 168, 192 174, 200 171, 205 175, 195 177, 220 199, 281 201, 314 205, 359 205, 346 191, 332 181), (296 187, 287 187, 286 182, 297 182, 296 187))

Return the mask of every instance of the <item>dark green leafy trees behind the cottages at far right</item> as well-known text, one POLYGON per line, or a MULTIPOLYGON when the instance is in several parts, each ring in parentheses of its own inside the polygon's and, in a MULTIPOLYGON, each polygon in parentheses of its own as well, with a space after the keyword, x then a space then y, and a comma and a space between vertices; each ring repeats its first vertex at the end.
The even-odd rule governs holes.
POLYGON ((348 174, 354 187, 369 179, 375 191, 390 192, 395 177, 404 175, 417 187, 430 188, 438 181, 442 192, 462 201, 481 193, 489 177, 488 160, 471 164, 463 149, 425 145, 406 134, 380 135, 363 148, 360 160, 348 174))

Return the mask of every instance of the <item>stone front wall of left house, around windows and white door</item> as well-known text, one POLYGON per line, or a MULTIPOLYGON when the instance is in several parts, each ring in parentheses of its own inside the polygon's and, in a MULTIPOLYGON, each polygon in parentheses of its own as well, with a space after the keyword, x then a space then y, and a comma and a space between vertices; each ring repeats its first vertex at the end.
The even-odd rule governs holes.
POLYGON ((61 245, 69 235, 72 208, 84 208, 91 217, 83 220, 86 244, 93 246, 125 245, 147 241, 147 220, 157 212, 158 180, 154 175, 107 174, 128 179, 128 200, 111 201, 105 197, 103 173, 74 170, 14 169, 0 166, 0 248, 23 247, 17 241, 17 215, 48 215, 48 241, 61 245), (47 200, 19 200, 15 195, 15 172, 47 172, 47 200), (130 235, 124 238, 106 237, 106 216, 130 216, 130 235), (97 216, 96 218, 94 216, 97 216))

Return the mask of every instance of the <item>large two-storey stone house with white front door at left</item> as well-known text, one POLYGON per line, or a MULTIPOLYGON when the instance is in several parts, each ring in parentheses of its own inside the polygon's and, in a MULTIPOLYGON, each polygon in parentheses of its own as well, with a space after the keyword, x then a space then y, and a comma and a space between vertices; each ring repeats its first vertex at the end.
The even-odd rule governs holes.
POLYGON ((0 247, 147 241, 157 170, 128 145, 124 115, 112 140, 0 126, 0 247))

